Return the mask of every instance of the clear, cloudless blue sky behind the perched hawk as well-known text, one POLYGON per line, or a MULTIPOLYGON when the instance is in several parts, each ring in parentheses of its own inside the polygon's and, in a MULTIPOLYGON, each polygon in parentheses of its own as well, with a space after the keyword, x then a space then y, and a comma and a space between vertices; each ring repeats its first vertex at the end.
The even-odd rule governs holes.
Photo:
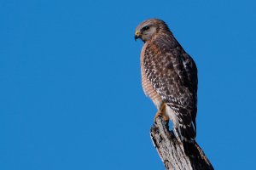
POLYGON ((135 27, 165 20, 199 70, 197 142, 215 169, 256 161, 256 3, 0 2, 0 169, 164 169, 135 27))

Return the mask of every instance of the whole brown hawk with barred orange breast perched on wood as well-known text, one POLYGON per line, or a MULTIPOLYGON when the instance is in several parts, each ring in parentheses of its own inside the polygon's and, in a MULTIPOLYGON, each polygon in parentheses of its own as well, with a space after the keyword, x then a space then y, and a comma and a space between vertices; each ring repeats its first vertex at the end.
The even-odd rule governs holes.
POLYGON ((141 72, 144 93, 157 108, 154 121, 163 116, 172 121, 185 153, 195 142, 197 112, 197 68, 195 61, 173 37, 163 20, 150 19, 139 24, 135 40, 143 40, 141 72))

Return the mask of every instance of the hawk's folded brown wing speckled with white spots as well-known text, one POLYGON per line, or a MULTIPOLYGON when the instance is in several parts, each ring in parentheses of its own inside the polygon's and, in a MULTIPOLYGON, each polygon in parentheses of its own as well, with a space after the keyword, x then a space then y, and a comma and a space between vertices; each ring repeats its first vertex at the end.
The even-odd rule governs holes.
POLYGON ((195 84, 197 88, 197 73, 189 68, 190 63, 183 54, 183 48, 174 37, 161 35, 148 43, 144 68, 154 90, 177 114, 182 126, 181 135, 186 139, 195 139, 195 125, 192 127, 191 123, 194 123, 192 114, 196 113, 194 88, 195 84))

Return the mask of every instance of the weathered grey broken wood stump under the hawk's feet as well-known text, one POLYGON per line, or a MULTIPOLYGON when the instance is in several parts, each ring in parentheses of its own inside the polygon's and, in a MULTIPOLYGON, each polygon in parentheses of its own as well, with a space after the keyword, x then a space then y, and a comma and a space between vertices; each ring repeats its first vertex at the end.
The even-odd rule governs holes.
POLYGON ((150 136, 154 147, 161 160, 164 162, 166 170, 212 170, 212 164, 207 159, 201 147, 195 142, 195 148, 199 151, 198 156, 186 156, 183 146, 180 144, 174 133, 169 131, 168 124, 158 117, 153 127, 150 129, 150 136))

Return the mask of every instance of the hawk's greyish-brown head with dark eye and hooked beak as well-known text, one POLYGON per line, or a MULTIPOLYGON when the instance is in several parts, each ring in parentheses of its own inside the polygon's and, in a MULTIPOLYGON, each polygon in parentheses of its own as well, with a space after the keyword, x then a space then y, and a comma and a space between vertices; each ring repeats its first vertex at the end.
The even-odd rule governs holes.
POLYGON ((169 31, 168 26, 163 20, 145 20, 136 27, 134 38, 135 40, 137 40, 137 38, 140 38, 143 40, 143 42, 147 42, 159 31, 169 31))

